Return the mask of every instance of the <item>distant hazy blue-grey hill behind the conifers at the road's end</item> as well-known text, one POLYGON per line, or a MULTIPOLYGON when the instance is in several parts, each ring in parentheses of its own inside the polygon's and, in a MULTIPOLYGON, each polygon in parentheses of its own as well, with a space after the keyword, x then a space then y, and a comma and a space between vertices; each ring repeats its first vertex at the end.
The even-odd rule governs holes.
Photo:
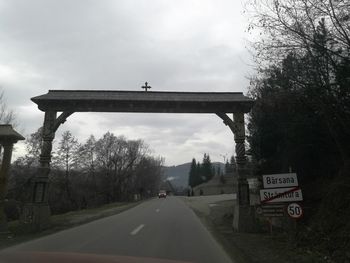
MULTIPOLYGON (((215 167, 220 165, 221 171, 225 170, 225 164, 220 162, 212 163, 215 167)), ((188 186, 188 175, 191 163, 184 163, 176 166, 164 166, 164 180, 169 180, 174 187, 186 188, 188 186)))

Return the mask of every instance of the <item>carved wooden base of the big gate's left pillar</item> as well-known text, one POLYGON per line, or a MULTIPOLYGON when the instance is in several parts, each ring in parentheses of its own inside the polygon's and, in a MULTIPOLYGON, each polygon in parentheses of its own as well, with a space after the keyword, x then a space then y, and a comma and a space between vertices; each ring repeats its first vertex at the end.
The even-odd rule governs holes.
POLYGON ((38 232, 50 227, 50 207, 48 204, 26 204, 23 207, 21 228, 28 232, 38 232))

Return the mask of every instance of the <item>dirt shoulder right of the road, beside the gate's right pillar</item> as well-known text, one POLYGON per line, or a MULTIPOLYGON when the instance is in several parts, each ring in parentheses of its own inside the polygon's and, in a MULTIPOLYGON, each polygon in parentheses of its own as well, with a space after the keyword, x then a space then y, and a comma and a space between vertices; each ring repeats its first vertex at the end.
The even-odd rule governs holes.
POLYGON ((332 262, 322 255, 297 248, 283 233, 237 233, 232 229, 235 201, 202 201, 183 198, 198 215, 235 263, 312 263, 332 262))

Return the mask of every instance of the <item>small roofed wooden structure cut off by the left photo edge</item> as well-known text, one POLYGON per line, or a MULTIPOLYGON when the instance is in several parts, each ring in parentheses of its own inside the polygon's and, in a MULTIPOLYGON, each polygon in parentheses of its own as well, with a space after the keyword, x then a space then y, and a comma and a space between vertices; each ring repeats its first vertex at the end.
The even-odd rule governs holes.
POLYGON ((13 145, 19 140, 25 138, 16 132, 12 125, 1 124, 0 125, 0 145, 4 149, 2 152, 1 168, 0 168, 0 232, 7 232, 7 220, 4 211, 5 197, 7 193, 7 180, 8 172, 11 165, 12 149, 13 145))

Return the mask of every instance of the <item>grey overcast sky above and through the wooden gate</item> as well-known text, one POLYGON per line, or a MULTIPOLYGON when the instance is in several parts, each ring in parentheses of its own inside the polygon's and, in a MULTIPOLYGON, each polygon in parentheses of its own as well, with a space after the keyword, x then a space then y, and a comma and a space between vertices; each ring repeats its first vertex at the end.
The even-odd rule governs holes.
MULTIPOLYGON (((43 123, 30 98, 49 89, 242 91, 252 71, 241 1, 0 0, 0 86, 27 136, 43 123)), ((107 131, 143 139, 167 165, 233 154, 211 114, 75 113, 80 142, 107 131)), ((21 145, 16 155, 21 154, 21 145)))

